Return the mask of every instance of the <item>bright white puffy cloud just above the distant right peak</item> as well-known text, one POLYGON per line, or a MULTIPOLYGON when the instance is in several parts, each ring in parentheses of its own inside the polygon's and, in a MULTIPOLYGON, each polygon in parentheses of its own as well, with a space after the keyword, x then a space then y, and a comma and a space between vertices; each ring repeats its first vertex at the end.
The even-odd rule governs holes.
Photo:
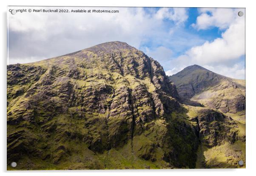
POLYGON ((203 64, 233 60, 244 54, 245 21, 238 18, 222 33, 222 38, 216 38, 213 42, 206 41, 186 52, 193 61, 203 64))

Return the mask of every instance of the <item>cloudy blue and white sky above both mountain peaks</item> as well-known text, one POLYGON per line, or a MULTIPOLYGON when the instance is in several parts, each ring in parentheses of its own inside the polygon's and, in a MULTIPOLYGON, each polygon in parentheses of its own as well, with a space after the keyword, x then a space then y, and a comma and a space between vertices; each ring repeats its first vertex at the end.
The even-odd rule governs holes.
MULTIPOLYGON (((9 7, 22 9, 26 7, 9 7)), ((157 60, 167 75, 197 64, 245 79, 241 8, 27 7, 119 13, 8 13, 8 64, 30 63, 107 41, 123 41, 157 60)))

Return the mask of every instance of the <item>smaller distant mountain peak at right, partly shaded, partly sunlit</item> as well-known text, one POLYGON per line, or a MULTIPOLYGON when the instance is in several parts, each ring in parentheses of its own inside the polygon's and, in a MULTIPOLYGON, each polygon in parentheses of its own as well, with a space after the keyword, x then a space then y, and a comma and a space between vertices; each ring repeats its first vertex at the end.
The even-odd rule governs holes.
POLYGON ((244 80, 225 77, 198 65, 188 66, 169 78, 188 104, 198 105, 197 102, 223 113, 245 110, 244 80))

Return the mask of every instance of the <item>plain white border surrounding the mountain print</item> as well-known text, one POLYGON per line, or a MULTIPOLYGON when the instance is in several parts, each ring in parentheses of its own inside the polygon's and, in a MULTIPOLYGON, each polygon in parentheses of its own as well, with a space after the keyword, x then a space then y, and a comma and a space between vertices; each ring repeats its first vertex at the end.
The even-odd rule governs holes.
POLYGON ((19 176, 45 176, 45 175, 57 175, 57 176, 69 176, 69 175, 106 175, 106 176, 131 176, 146 174, 148 176, 161 175, 189 175, 198 176, 216 176, 216 175, 254 175, 256 164, 255 155, 255 101, 256 101, 256 46, 255 46, 255 33, 256 33, 256 6, 253 5, 253 0, 91 0, 91 1, 79 1, 79 0, 1 0, 1 69, 0 69, 0 112, 1 112, 1 140, 0 140, 0 171, 2 175, 19 175, 19 176), (141 7, 237 7, 246 8, 246 169, 179 169, 179 170, 74 170, 74 171, 23 171, 23 172, 7 172, 6 171, 6 61, 7 61, 7 47, 6 47, 6 8, 7 5, 66 5, 66 6, 141 6, 141 7), (254 174, 253 174, 254 173, 254 174))

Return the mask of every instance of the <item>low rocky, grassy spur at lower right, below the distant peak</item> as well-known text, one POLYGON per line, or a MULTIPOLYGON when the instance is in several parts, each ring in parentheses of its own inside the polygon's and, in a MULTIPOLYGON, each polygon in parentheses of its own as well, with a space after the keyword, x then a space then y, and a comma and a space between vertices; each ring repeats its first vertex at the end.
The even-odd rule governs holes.
POLYGON ((239 121, 208 107, 183 106, 200 140, 196 168, 237 168, 245 160, 239 121))

